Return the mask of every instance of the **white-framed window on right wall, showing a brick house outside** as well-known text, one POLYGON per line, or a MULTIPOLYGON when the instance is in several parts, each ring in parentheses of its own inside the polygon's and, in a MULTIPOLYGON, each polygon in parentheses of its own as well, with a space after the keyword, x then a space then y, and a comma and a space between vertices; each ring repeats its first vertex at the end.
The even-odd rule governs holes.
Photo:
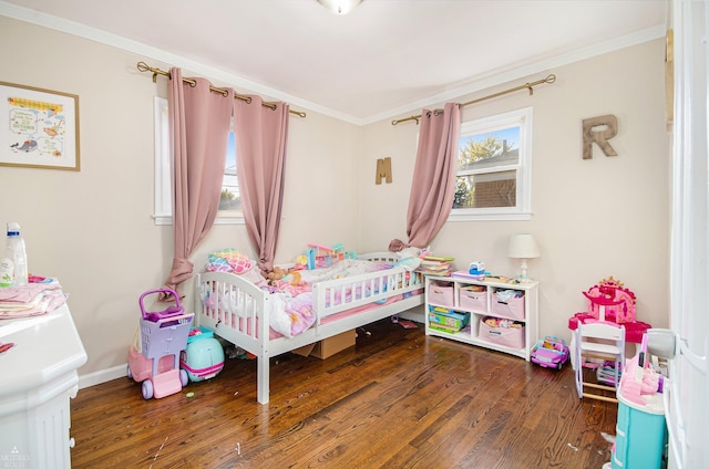
POLYGON ((461 124, 450 220, 531 217, 532 108, 461 124))

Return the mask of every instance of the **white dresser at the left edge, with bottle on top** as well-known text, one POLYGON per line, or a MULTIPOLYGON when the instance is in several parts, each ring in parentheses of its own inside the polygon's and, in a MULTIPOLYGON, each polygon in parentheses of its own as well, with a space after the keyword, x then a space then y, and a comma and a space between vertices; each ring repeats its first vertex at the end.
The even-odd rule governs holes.
POLYGON ((86 363, 69 306, 35 317, 0 321, 0 467, 70 468, 69 399, 86 363))

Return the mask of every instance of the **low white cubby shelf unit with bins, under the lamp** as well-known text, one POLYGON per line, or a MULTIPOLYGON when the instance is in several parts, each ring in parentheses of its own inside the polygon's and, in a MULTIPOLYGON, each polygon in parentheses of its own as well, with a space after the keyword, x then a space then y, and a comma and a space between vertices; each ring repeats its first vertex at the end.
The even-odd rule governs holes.
POLYGON ((425 277, 425 334, 450 338, 452 341, 477 345, 497 352, 504 352, 530 361, 530 352, 537 342, 538 324, 538 282, 504 283, 489 280, 473 280, 464 277, 425 277), (473 292, 474 289, 482 290, 473 292), (515 298, 512 301, 500 301, 499 291, 512 291, 515 298), (521 295, 521 296, 520 296, 521 295), (513 302, 515 302, 513 304, 513 302), (450 333, 431 327, 431 308, 448 309, 460 314, 469 314, 469 326, 459 332, 450 333), (512 320, 521 323, 522 327, 515 331, 504 331, 505 327, 496 327, 495 331, 512 332, 518 336, 510 341, 497 341, 496 332, 483 326, 481 337, 481 323, 484 317, 492 316, 501 320, 512 320), (485 337, 485 334, 489 334, 485 337), (490 335, 492 334, 492 335, 490 335), (487 337, 491 337, 490 340, 487 337))

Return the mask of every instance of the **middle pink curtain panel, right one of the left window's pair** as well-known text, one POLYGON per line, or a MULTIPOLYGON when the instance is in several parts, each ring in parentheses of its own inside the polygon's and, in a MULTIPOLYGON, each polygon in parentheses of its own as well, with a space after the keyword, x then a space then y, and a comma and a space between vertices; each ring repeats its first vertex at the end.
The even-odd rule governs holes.
POLYGON ((271 110, 249 97, 250 103, 234 100, 236 165, 246 231, 266 274, 274 268, 280 229, 289 106, 277 103, 271 110))

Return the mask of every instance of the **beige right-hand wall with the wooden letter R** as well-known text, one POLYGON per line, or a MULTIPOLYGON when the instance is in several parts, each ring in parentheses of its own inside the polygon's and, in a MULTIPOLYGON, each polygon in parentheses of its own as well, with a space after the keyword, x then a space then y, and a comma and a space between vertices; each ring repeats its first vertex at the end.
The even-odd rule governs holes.
MULTIPOLYGON (((520 92, 463 111, 463 121, 469 121, 533 106, 533 216, 530 221, 449 222, 431 243, 432 251, 455 257, 459 268, 482 260, 491 272, 513 275, 518 262, 506 256, 510 236, 534 233, 542 258, 530 261, 530 275, 541 281, 543 335, 569 338, 568 317, 585 311, 580 292, 609 275, 635 291, 640 321, 669 325, 670 154, 664 53, 664 41, 657 40, 561 66, 548 71, 557 76, 556 83, 536 87, 532 96, 520 92), (584 160, 580 121, 605 114, 618 118, 618 135, 612 140, 618 156, 606 157, 595 147, 593 159, 584 160)), ((417 110, 404 116, 411 114, 417 110)), ((374 207, 361 209, 361 244, 367 250, 392 238, 407 239, 418 126, 392 126, 388 119, 364 132, 360 199, 362 207, 374 207), (374 186, 374 160, 382 156, 392 158, 393 184, 374 186)))

